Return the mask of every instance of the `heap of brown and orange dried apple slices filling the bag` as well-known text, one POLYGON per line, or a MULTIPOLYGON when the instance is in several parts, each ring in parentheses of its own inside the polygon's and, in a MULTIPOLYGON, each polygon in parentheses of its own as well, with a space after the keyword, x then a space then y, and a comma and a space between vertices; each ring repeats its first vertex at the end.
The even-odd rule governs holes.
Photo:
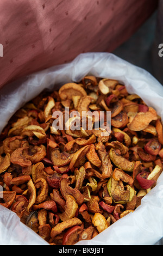
POLYGON ((64 84, 28 102, 1 133, 0 204, 51 245, 92 239, 155 186, 162 145, 160 117, 123 84, 94 76, 64 84), (110 134, 54 129, 53 114, 65 107, 104 118, 111 111, 110 134))

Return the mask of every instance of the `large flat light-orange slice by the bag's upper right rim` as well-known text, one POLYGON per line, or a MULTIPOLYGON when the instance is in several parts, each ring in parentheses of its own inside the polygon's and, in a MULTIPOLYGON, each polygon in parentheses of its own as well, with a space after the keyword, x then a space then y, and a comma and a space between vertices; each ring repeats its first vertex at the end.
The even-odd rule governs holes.
POLYGON ((139 112, 127 126, 131 131, 142 131, 146 129, 153 120, 157 120, 157 113, 154 108, 149 107, 147 112, 139 112))

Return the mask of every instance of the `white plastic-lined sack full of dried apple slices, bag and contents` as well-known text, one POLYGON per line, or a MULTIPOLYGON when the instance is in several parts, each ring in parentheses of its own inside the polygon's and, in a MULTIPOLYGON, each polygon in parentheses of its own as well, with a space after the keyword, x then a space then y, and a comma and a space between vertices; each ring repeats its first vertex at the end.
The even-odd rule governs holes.
POLYGON ((113 54, 85 53, 12 85, 0 106, 1 244, 158 242, 161 84, 113 54), (73 115, 57 130, 53 122, 60 113, 66 119, 67 108, 73 115), (80 126, 86 111, 96 112, 86 116, 93 125, 102 112, 103 126, 80 126))

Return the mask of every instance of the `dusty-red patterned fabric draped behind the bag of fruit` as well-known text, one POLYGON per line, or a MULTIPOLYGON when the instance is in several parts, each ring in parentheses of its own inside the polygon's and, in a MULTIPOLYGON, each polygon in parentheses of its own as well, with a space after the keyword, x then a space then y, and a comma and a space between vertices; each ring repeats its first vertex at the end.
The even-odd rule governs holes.
POLYGON ((156 0, 1 0, 0 88, 79 53, 115 50, 156 6, 156 0))

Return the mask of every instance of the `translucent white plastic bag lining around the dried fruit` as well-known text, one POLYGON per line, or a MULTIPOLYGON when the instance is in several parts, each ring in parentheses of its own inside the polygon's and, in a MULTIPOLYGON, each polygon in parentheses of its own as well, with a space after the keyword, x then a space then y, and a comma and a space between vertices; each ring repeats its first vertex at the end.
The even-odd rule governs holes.
MULTIPOLYGON (((155 108, 163 120, 163 87, 147 71, 111 53, 83 53, 71 63, 54 66, 9 84, 1 91, 0 132, 10 117, 45 88, 54 90, 85 75, 108 77, 124 83, 129 93, 138 94, 155 108)), ((123 217, 92 240, 77 245, 154 245, 163 237, 163 173, 156 186, 133 213, 123 217)), ((1 245, 48 245, 22 224, 14 212, 0 205, 1 245)))

